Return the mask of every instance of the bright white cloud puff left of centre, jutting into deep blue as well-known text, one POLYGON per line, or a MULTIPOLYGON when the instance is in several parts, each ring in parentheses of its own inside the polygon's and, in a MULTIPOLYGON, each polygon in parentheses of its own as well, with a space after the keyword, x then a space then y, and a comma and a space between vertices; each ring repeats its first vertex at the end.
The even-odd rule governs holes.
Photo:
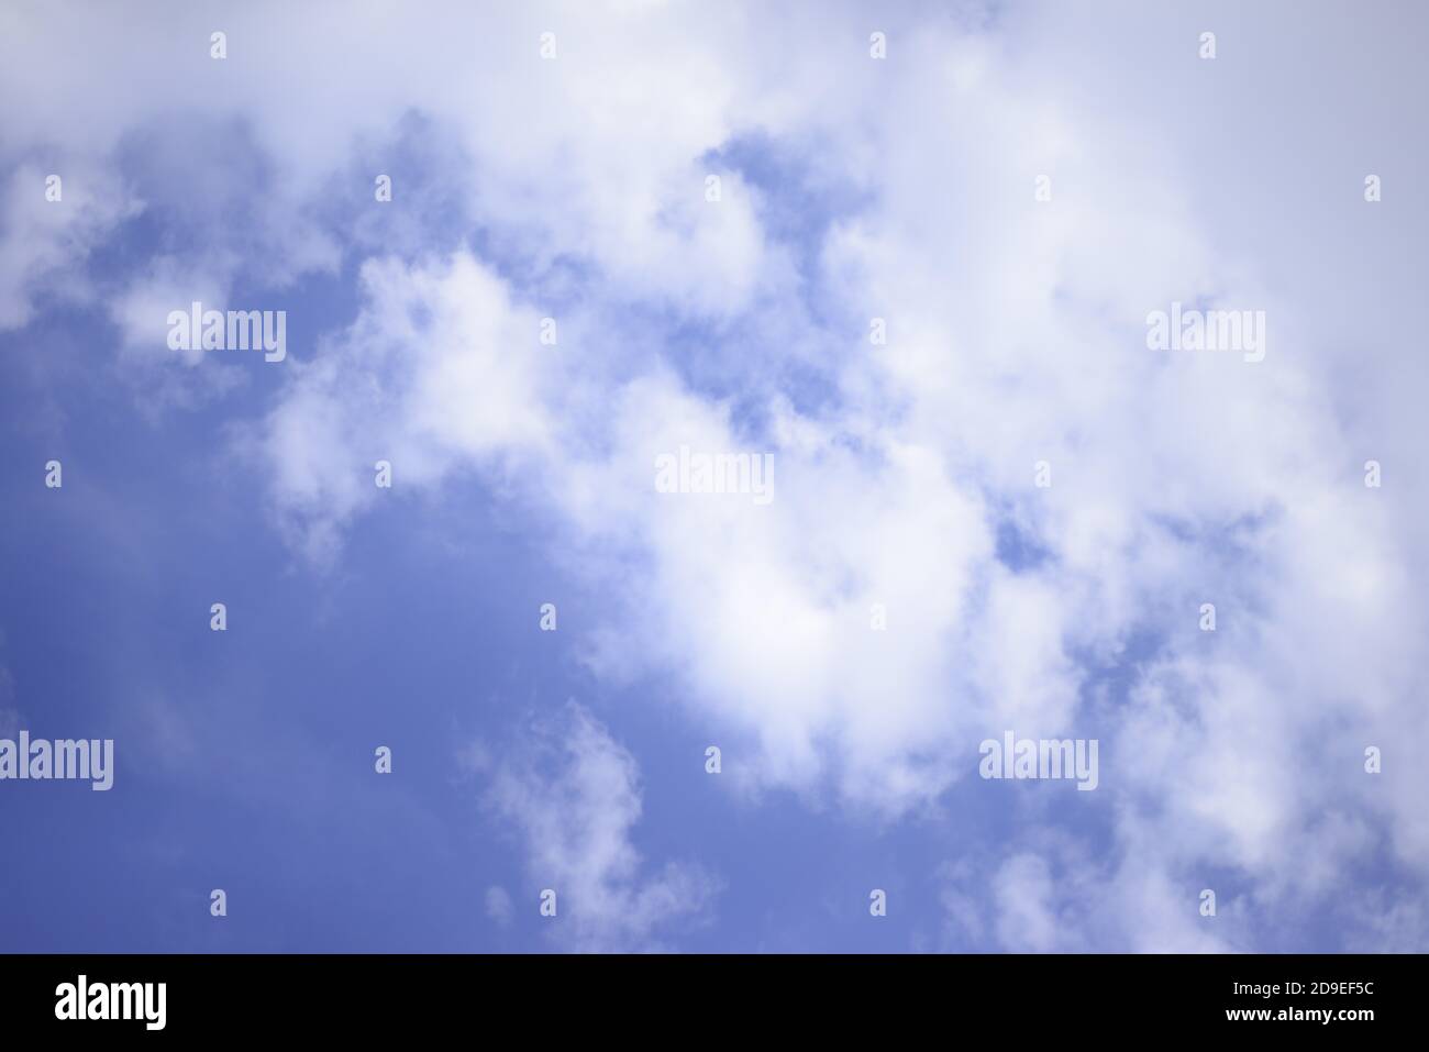
POLYGON ((294 543, 332 560, 343 525, 383 490, 422 487, 474 462, 500 466, 549 445, 552 357, 539 316, 469 254, 406 267, 369 260, 367 307, 309 362, 294 359, 284 397, 240 443, 272 467, 272 493, 294 543))

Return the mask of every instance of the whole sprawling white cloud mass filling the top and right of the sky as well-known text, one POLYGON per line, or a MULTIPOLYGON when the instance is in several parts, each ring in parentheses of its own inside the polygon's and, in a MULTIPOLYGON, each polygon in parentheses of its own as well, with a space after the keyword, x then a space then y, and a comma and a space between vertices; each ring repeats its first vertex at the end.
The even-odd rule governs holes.
MULTIPOLYGON (((342 180, 370 194, 389 166, 372 144, 409 110, 429 116, 470 159, 444 187, 454 214, 522 269, 464 249, 363 266, 357 320, 290 360, 243 430, 294 545, 336 559, 379 493, 377 459, 416 489, 476 472, 556 523, 557 555, 607 589, 593 668, 676 672, 692 718, 752 755, 749 789, 900 815, 967 778, 987 735, 1097 728, 1115 862, 1047 860, 1029 808, 982 870, 1000 945, 1242 945, 1187 926, 1208 866, 1276 905, 1333 893, 1383 842, 1422 885, 1426 373, 1393 319, 1416 302, 1408 246, 1429 232, 1402 212, 1408 233, 1373 226, 1390 202, 1372 212, 1358 193, 1372 157, 1415 172, 1423 147, 1405 144, 1403 103, 1353 64, 1306 64, 1282 30, 1342 37, 1403 76, 1409 37, 1268 4, 1225 13, 1222 59, 1200 63, 1196 29, 1146 6, 970 6, 937 26, 890 17, 873 61, 855 6, 815 10, 457 6, 433 31, 389 7, 312 6, 274 34, 253 7, 227 13, 223 63, 191 13, 107 50, 10 13, 34 53, 83 56, 120 87, 71 127, 60 116, 96 73, 61 63, 4 142, 66 136, 99 163, 156 119, 141 71, 164 56, 201 86, 187 120, 250 126, 276 187, 253 243, 272 246, 342 180), (1260 90, 1252 53, 1280 91, 1260 90), (1333 142, 1325 106, 1348 127, 1333 142), (767 222, 775 192, 716 159, 742 134, 789 144, 863 202, 806 272, 767 222), (1302 146, 1333 177, 1306 174, 1302 146), (722 176, 717 204, 706 174, 722 176), (1033 199, 1039 174, 1050 202, 1033 199), (557 280, 569 266, 584 284, 557 280), (527 284, 579 286, 559 297, 559 347, 537 343, 546 306, 527 284), (1265 310, 1265 360, 1149 350, 1145 316, 1173 300, 1265 310), (872 317, 886 346, 867 342, 872 317), (692 366, 662 346, 682 323, 710 326, 703 353, 723 357, 692 366), (789 379, 809 370, 833 392, 816 407, 789 379), (753 413, 709 393, 720 373, 753 413), (654 457, 680 445, 773 452, 775 500, 654 493, 654 457), (1360 483, 1369 457, 1388 466, 1382 490, 1360 483), (1050 489, 1033 485, 1042 460, 1050 489), (1009 529, 1036 557, 995 557, 1009 529), (1215 635, 1196 627, 1203 602, 1215 635), (1107 700, 1092 670, 1115 665, 1130 688, 1107 700), (1383 775, 1363 772, 1366 745, 1386 749, 1383 775)), ((314 250, 280 277, 332 264, 314 250)), ((0 282, 0 317, 23 323, 19 274, 0 282)), ((119 300, 127 332, 153 302, 119 300)), ((629 789, 586 736, 606 758, 592 786, 629 789)), ((597 850, 522 809, 540 782, 507 785, 503 809, 626 886, 630 822, 597 850)), ((1402 915, 1388 895, 1360 915, 1402 915)), ((589 892, 656 915, 663 896, 589 892)))

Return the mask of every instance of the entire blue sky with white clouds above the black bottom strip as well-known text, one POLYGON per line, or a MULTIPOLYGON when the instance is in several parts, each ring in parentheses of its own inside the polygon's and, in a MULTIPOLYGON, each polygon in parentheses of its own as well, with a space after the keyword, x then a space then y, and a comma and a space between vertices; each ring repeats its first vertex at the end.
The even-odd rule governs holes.
POLYGON ((6 4, 0 951, 1429 949, 1426 30, 6 4))

